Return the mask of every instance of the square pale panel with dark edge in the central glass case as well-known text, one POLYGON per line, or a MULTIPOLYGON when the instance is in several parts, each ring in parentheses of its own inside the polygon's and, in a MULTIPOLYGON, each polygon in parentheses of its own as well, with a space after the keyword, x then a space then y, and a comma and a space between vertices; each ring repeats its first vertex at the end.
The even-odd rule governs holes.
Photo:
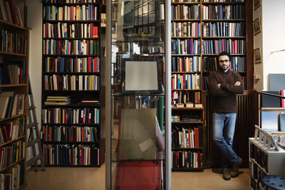
POLYGON ((162 93, 160 60, 123 59, 123 93, 162 93))

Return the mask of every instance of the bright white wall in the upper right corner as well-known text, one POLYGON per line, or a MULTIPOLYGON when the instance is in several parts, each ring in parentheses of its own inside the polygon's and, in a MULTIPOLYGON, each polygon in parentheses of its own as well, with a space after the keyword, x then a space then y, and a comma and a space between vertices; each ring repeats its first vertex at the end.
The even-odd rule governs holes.
POLYGON ((269 73, 285 73, 285 1, 262 0, 263 90, 269 90, 269 73))

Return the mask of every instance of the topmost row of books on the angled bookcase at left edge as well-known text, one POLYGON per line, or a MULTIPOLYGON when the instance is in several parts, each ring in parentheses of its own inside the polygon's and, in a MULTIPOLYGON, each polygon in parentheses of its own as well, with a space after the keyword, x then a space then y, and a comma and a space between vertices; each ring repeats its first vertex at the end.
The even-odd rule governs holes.
POLYGON ((24 6, 14 5, 12 0, 1 0, 0 19, 24 26, 24 6))

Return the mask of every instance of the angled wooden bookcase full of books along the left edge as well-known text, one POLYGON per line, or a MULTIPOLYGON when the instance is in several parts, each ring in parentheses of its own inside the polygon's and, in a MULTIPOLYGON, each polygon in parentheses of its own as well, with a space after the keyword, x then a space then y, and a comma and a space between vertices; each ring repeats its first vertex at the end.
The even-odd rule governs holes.
POLYGON ((24 4, 1 1, 0 9, 0 179, 1 186, 21 189, 26 186, 29 29, 24 4), (3 11, 8 7, 11 11, 3 11))

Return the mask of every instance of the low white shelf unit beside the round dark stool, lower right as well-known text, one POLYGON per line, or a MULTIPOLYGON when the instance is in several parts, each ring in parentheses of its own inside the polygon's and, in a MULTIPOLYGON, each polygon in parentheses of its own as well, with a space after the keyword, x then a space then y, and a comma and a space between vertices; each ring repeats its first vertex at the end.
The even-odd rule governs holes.
MULTIPOLYGON (((266 189, 262 176, 284 176, 284 148, 271 144, 273 135, 284 137, 284 132, 265 132, 256 126, 255 135, 249 138, 249 186, 250 189, 266 189)), ((274 139, 273 139, 274 140, 274 139)), ((284 146, 284 145, 283 145, 284 146)))

